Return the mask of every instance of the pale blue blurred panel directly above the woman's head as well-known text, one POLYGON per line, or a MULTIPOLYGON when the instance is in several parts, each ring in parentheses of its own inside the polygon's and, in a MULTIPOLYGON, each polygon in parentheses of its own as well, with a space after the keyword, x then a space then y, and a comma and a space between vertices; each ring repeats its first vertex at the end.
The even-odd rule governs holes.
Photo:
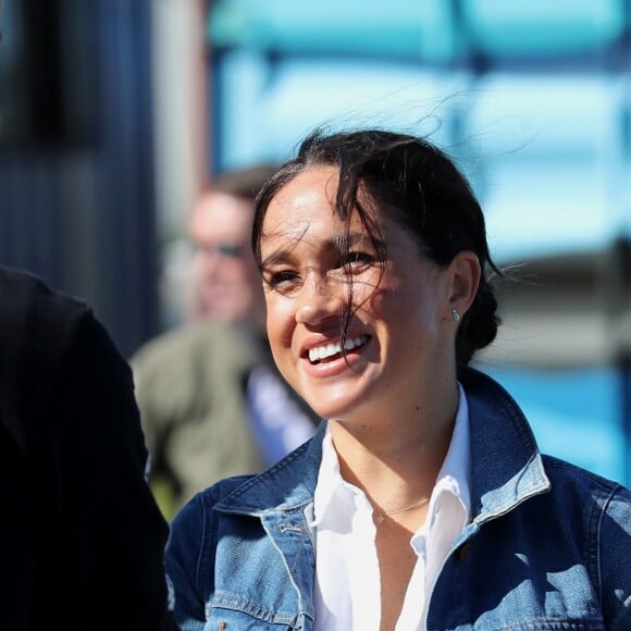
POLYGON ((285 159, 316 126, 388 126, 451 145, 449 120, 466 77, 392 62, 222 54, 218 78, 220 168, 285 159))

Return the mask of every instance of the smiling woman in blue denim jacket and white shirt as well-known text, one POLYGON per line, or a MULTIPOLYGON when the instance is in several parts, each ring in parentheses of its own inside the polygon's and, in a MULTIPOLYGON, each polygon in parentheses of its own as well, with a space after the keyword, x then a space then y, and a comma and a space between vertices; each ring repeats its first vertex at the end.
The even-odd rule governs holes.
POLYGON ((631 629, 631 494, 541 456, 468 368, 498 270, 453 162, 314 134, 259 194, 252 245, 274 360, 326 420, 176 517, 182 628, 631 629))

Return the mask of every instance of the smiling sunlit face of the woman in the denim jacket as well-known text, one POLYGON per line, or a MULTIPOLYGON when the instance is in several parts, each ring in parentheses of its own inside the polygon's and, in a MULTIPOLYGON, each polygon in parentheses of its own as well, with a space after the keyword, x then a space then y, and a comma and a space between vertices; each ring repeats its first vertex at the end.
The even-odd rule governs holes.
POLYGON ((268 334, 279 369, 319 415, 369 422, 400 406, 418 409, 432 380, 451 367, 451 276, 379 209, 385 268, 357 216, 345 258, 337 177, 333 166, 304 171, 268 207, 261 237, 268 334), (345 358, 341 327, 350 289, 345 358))

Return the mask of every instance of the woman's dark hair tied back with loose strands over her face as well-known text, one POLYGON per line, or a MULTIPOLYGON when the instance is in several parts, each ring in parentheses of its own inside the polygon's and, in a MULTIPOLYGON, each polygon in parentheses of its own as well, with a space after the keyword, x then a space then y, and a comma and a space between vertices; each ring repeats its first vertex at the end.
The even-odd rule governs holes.
MULTIPOLYGON (((362 205, 362 191, 383 213, 389 213, 409 231, 420 250, 437 265, 448 265, 462 250, 478 256, 482 277, 456 338, 457 366, 467 366, 473 354, 491 344, 497 334, 499 318, 491 279, 503 274, 488 252, 482 209, 454 161, 426 139, 407 134, 380 129, 312 133, 300 145, 296 158, 283 164, 259 193, 252 227, 252 248, 259 265, 262 224, 270 201, 298 173, 317 165, 339 169, 337 213, 347 226, 357 213, 375 246, 383 239, 362 205)), ((383 247, 376 251, 383 265, 387 252, 383 247)), ((351 316, 346 314, 344 329, 351 316)))

